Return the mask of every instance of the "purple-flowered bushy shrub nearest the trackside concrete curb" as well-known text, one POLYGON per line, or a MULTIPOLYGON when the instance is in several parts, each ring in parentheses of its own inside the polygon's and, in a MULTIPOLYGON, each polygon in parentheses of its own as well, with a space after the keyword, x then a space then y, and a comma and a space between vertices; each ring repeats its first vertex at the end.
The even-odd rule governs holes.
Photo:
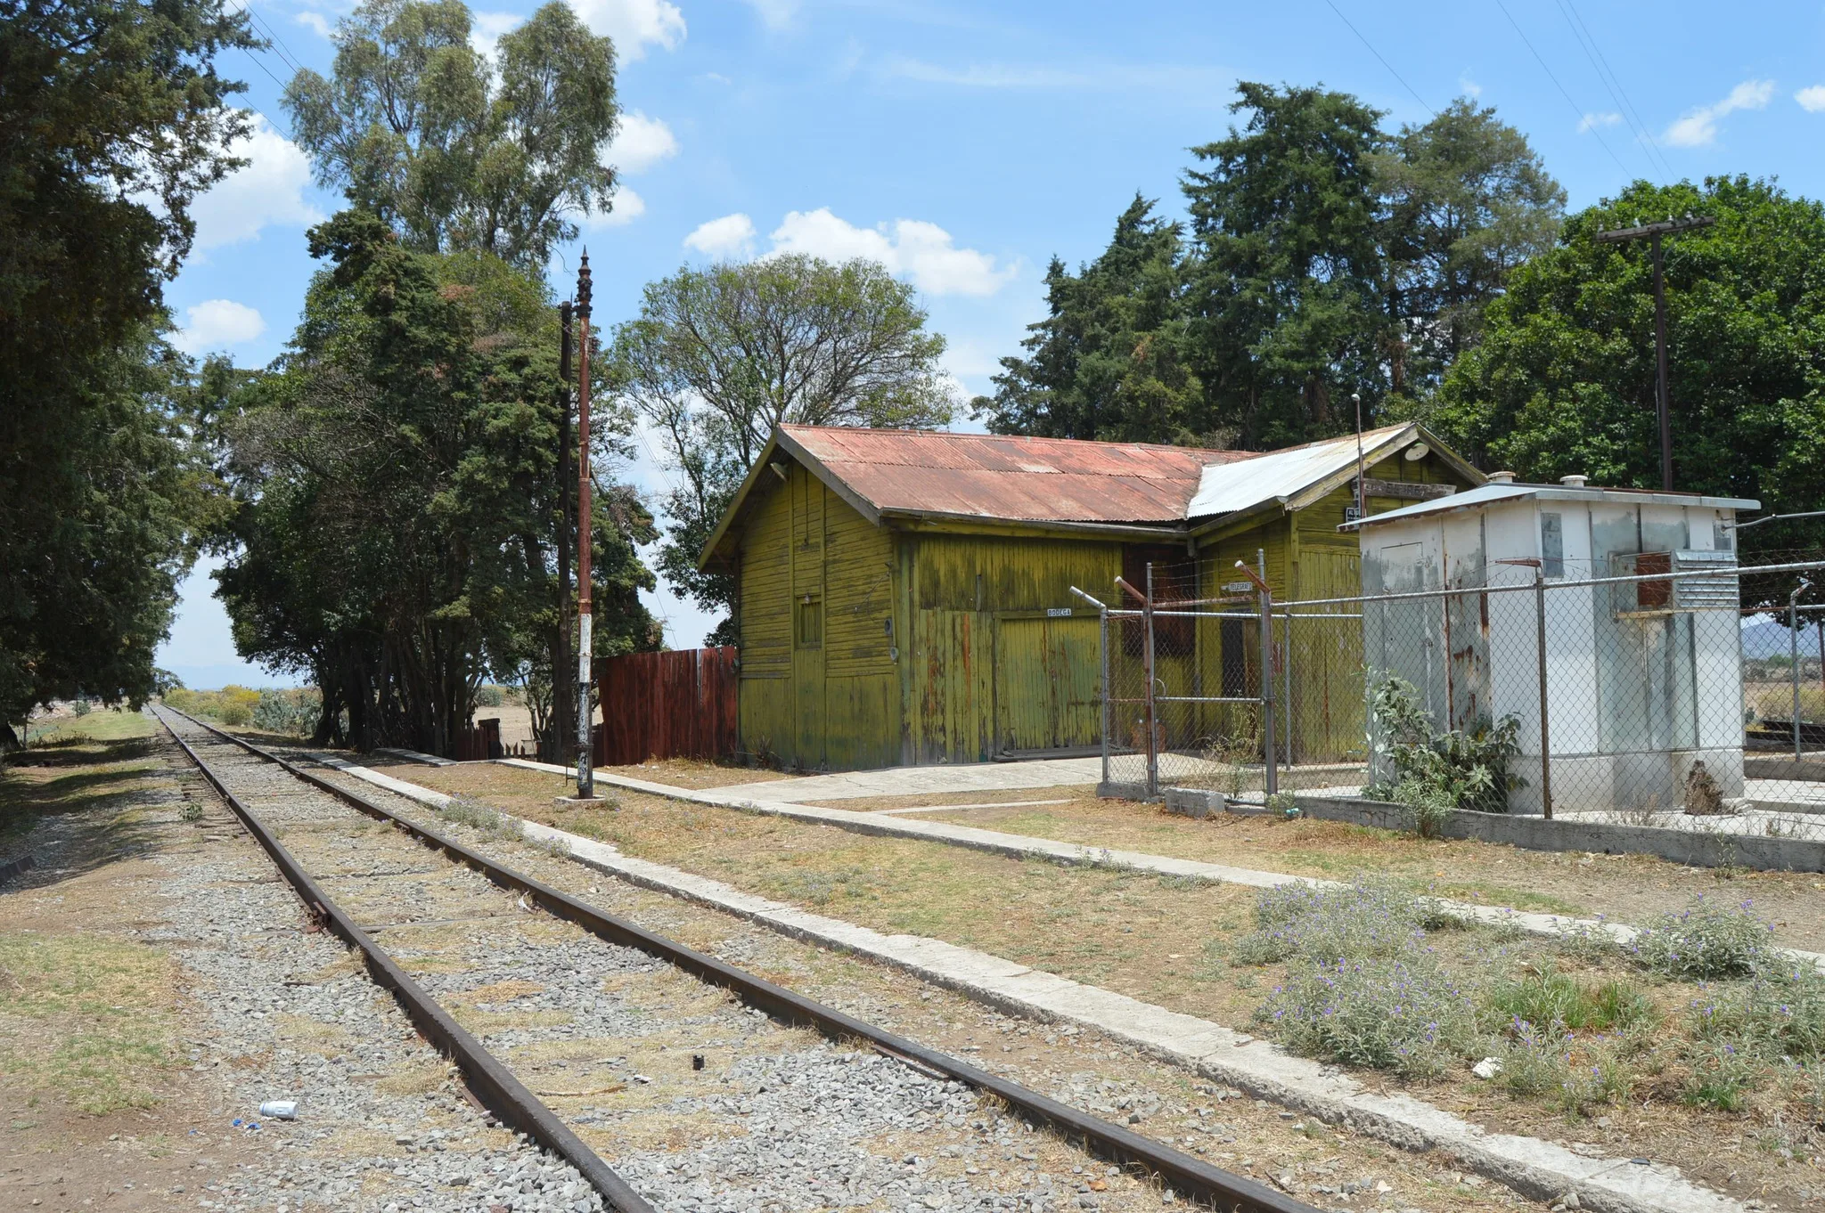
POLYGON ((1484 1034, 1469 992, 1431 954, 1294 961, 1256 1011, 1307 1056, 1425 1078, 1476 1054, 1484 1034))

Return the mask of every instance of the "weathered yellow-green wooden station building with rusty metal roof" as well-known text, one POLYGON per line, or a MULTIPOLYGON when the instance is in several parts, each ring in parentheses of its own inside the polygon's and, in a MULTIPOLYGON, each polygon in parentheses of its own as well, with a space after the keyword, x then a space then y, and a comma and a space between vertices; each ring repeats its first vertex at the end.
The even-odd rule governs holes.
MULTIPOLYGON (((1371 513, 1484 483, 1420 425, 1363 454, 1371 513)), ((1204 596, 1265 551, 1278 598, 1358 593, 1354 482, 1354 434, 1263 454, 781 425, 699 562, 737 582, 741 748, 807 770, 1090 752, 1099 618, 1071 587, 1126 606, 1115 576, 1153 564, 1157 598, 1204 596)), ((1161 640, 1159 677, 1257 680, 1230 622, 1161 640)), ((1354 700, 1296 721, 1303 750, 1360 744, 1356 660, 1354 700)))

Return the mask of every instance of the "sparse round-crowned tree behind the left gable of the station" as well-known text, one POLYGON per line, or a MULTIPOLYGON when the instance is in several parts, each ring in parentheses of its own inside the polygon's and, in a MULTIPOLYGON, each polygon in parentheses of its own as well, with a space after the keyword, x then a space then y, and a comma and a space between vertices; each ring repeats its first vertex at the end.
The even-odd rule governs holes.
MULTIPOLYGON (((728 576, 699 573, 697 555, 776 425, 944 425, 942 354, 912 288, 872 261, 787 255, 650 283, 615 328, 608 378, 683 476, 662 502, 673 591, 732 607, 728 576)), ((712 644, 734 637, 728 618, 712 644)))

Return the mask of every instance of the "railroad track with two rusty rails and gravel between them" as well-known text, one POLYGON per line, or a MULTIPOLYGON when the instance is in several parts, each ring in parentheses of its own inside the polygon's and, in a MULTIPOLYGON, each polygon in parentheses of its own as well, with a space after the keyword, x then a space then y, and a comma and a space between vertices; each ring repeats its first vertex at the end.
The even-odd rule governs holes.
POLYGON ((606 914, 239 737, 157 715, 312 918, 361 954, 471 1093, 569 1162, 600 1208, 1097 1208, 1102 1197, 1086 1204, 1038 1182, 1033 1160, 1049 1149, 1155 1178, 1146 1200, 1119 1208, 1175 1195, 1314 1213, 606 914), (989 1160, 993 1178, 885 1153, 883 1138, 907 1129, 945 1156, 989 1160))

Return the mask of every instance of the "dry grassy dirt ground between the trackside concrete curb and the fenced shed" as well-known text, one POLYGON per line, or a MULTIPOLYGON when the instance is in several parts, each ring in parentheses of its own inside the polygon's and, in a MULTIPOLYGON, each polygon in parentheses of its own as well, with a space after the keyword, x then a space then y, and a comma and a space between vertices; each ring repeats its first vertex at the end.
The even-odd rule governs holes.
MULTIPOLYGON (((631 855, 710 876, 746 892, 883 932, 912 932, 982 949, 1243 1031, 1263 1031, 1250 1029, 1254 1012, 1283 972, 1279 965, 1228 963, 1232 945, 1252 925, 1256 899, 1254 890, 1236 885, 1013 861, 914 839, 871 837, 836 826, 626 792, 617 795, 613 810, 560 812, 553 808, 553 795, 560 788, 557 777, 515 768, 484 772, 456 766, 394 773, 599 837, 631 855)), ((960 819, 986 824, 982 817, 993 812, 996 810, 976 810, 960 819)), ((1549 886, 1577 892, 1586 903, 1683 907, 1686 888, 1732 899, 1743 899, 1741 890, 1752 885, 1757 892, 1765 888, 1745 876, 1719 881, 1710 872, 1684 874, 1672 865, 1653 865, 1663 870, 1642 872, 1633 861, 1531 855, 1478 843, 1420 843, 1336 823, 1179 823, 1164 821, 1146 806, 1110 801, 1086 801, 1080 812, 1084 817, 1048 814, 1044 821, 1031 824, 1046 826, 1048 835, 1058 837, 1053 830, 1062 832, 1075 823, 1073 828, 1080 832, 1075 841, 1155 852, 1164 850, 1161 839, 1170 837, 1177 839, 1181 854, 1197 850, 1195 857, 1201 859, 1268 870, 1305 868, 1314 876, 1343 877, 1389 874, 1453 896, 1529 892, 1538 899, 1562 897, 1531 892, 1549 886), (1088 814, 1099 808, 1104 814, 1113 810, 1111 819, 1088 821, 1088 814), (1234 839, 1246 850, 1217 850, 1225 839, 1234 839), (1447 872, 1500 866, 1502 859, 1507 865, 1498 883, 1445 877, 1447 872), (1553 859, 1560 863, 1540 863, 1553 859), (1509 870, 1513 877, 1507 876, 1509 870), (1619 886, 1633 901, 1622 899, 1615 892, 1619 886)), ((1794 903, 1816 901, 1810 888, 1790 888, 1790 883, 1774 883, 1774 888, 1787 892, 1794 903)), ((1553 907, 1571 908, 1566 901, 1555 901, 1553 907)), ((1790 910, 1788 918, 1798 918, 1798 910, 1790 910)), ((1798 923, 1783 921, 1788 936, 1803 934, 1796 930, 1798 923)), ((1487 930, 1456 932, 1440 939, 1440 949, 1455 952, 1455 961, 1465 970, 1557 969, 1593 981, 1613 976, 1597 969, 1586 972, 1562 961, 1537 939, 1504 939, 1487 930)), ((1637 980, 1642 978, 1637 974, 1637 980)), ((1697 994, 1692 985, 1642 981, 1668 1023, 1697 994)), ((1642 1102, 1628 1100, 1608 1107, 1602 1124, 1597 1124, 1511 1098, 1467 1074, 1411 1083, 1374 1071, 1360 1071, 1358 1078, 1372 1087, 1416 1094, 1491 1129, 1548 1140, 1602 1142, 1611 1151, 1664 1158, 1688 1175, 1737 1195, 1774 1197, 1790 1208, 1810 1208, 1825 1198, 1825 1180, 1807 1162, 1809 1153, 1796 1149, 1787 1136, 1778 1109, 1763 1118, 1712 1113, 1688 1107, 1668 1098, 1664 1089, 1648 1085, 1642 1102)))

